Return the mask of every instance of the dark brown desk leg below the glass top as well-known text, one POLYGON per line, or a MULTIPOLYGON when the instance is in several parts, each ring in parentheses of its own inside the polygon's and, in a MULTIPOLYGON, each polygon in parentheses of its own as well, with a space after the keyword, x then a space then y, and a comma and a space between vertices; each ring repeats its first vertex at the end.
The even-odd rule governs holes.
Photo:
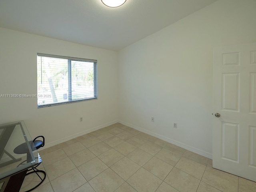
POLYGON ((19 192, 27 171, 28 170, 26 169, 13 176, 10 176, 8 183, 6 184, 5 188, 3 188, 4 192, 19 192))

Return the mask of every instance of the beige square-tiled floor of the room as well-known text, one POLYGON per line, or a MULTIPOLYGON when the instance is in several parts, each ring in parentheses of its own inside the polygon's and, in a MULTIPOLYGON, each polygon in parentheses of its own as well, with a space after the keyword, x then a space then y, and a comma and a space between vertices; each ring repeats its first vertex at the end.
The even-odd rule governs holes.
MULTIPOLYGON (((34 192, 256 192, 212 160, 120 123, 40 151, 46 180, 34 192)), ((37 177, 26 176, 21 192, 37 177)))

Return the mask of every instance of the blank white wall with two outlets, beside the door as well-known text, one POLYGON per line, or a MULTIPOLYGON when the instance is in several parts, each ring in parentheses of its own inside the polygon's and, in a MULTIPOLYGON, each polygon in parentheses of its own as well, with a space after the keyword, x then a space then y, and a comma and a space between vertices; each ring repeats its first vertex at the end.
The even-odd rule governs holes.
POLYGON ((213 48, 256 42, 255 10, 219 0, 121 50, 120 121, 211 158, 213 48))

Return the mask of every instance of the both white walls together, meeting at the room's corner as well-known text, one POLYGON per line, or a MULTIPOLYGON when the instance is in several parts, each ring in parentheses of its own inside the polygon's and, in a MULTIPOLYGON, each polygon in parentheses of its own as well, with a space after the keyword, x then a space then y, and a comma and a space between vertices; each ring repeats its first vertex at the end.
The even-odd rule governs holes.
POLYGON ((256 42, 255 10, 255 0, 219 0, 118 53, 0 28, 0 94, 36 94, 38 52, 98 60, 98 100, 0 98, 0 124, 24 120, 47 147, 119 119, 211 157, 213 47, 256 42))

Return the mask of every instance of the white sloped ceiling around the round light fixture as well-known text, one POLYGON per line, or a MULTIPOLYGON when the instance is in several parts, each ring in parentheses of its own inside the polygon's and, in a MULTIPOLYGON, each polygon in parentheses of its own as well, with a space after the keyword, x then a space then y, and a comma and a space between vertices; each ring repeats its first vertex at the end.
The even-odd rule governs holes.
POLYGON ((0 27, 117 51, 215 1, 0 0, 0 27))

